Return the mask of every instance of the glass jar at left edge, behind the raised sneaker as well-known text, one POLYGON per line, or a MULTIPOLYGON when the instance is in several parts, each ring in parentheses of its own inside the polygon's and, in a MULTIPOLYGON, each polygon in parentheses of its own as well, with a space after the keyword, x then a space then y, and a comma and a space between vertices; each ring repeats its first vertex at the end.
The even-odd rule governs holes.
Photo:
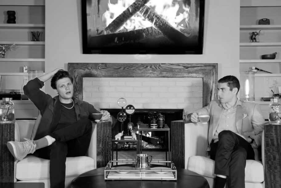
POLYGON ((0 104, 0 123, 12 123, 14 114, 14 102, 12 98, 3 98, 0 104))

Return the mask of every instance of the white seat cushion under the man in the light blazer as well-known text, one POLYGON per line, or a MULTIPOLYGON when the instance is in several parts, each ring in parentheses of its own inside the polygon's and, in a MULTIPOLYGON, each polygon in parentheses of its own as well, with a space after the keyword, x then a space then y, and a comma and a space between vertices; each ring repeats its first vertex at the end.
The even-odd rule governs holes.
MULTIPOLYGON (((189 158, 187 169, 204 177, 215 178, 215 161, 203 156, 189 158)), ((246 160, 245 182, 261 183, 264 181, 263 164, 260 161, 246 160)))

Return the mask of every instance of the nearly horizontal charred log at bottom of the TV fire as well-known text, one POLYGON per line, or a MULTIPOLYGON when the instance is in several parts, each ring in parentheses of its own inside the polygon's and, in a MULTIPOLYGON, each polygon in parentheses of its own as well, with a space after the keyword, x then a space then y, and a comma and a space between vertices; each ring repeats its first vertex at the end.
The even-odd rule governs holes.
POLYGON ((144 29, 137 29, 128 32, 122 33, 112 33, 107 35, 97 35, 90 38, 90 47, 95 47, 96 45, 100 46, 114 46, 114 45, 122 45, 124 43, 136 43, 141 42, 146 39, 151 39, 155 37, 161 37, 163 33, 161 33, 158 29, 154 27, 147 27, 144 29))

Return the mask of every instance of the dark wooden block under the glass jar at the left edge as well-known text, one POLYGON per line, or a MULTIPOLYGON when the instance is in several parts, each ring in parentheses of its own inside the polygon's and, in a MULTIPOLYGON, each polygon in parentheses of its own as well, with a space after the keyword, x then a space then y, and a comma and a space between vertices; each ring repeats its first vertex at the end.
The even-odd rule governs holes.
POLYGON ((14 157, 7 142, 15 139, 15 119, 13 123, 0 124, 0 182, 14 182, 14 157))

